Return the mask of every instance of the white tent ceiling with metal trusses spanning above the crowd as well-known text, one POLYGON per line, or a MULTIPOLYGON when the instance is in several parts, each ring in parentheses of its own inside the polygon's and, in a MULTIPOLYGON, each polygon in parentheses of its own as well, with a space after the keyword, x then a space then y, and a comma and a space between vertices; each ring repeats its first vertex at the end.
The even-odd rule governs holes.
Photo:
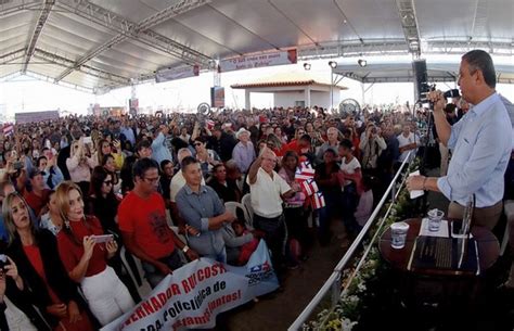
POLYGON ((512 0, 1 0, 0 77, 105 90, 160 67, 295 47, 304 60, 420 48, 512 56, 513 15, 512 0))

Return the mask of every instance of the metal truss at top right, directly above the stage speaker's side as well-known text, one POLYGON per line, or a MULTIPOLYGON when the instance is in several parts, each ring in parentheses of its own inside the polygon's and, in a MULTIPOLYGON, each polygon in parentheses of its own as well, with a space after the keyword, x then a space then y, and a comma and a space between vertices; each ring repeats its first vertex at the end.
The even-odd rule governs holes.
POLYGON ((420 30, 415 15, 414 0, 396 0, 400 15, 400 23, 406 36, 409 52, 419 56, 421 54, 420 30))

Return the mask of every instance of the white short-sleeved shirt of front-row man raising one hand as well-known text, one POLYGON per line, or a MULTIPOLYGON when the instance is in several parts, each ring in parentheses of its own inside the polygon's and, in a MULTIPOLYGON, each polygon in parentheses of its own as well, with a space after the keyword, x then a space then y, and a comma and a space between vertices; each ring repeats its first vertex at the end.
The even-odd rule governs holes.
POLYGON ((282 194, 291 190, 290 184, 273 171, 271 177, 265 169, 259 168, 255 183, 249 182, 252 208, 254 213, 266 218, 274 218, 282 215, 282 194))

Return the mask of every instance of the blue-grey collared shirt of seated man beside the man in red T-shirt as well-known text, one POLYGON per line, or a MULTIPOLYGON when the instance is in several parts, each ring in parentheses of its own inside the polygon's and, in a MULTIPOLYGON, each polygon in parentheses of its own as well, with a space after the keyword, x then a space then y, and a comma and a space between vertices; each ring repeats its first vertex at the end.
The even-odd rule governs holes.
POLYGON ((223 230, 209 229, 209 218, 224 213, 224 206, 209 187, 201 186, 193 192, 185 184, 177 194, 177 207, 185 222, 200 231, 198 237, 189 237, 189 243, 202 256, 217 256, 224 250, 223 230))

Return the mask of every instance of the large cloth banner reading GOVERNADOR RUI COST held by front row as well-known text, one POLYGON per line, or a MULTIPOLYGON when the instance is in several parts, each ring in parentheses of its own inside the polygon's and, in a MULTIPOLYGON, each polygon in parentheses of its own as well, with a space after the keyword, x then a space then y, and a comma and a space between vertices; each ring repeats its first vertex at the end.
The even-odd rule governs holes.
POLYGON ((214 328, 219 313, 279 287, 266 243, 244 267, 201 258, 166 277, 130 313, 102 331, 156 331, 214 328))

